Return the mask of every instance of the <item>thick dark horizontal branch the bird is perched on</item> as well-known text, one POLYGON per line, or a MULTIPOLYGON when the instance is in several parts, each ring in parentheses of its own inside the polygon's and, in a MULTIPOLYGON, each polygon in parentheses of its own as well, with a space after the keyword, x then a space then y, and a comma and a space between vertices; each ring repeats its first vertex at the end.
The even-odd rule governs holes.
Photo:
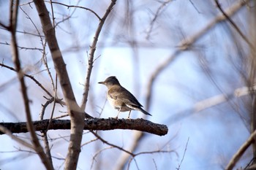
MULTIPOLYGON (((161 125, 157 123, 152 123, 148 120, 143 119, 100 119, 92 118, 89 120, 84 120, 83 130, 97 130, 97 131, 110 131, 114 129, 128 129, 136 131, 144 131, 150 134, 156 134, 163 136, 167 134, 167 125, 161 125)), ((46 131, 49 124, 49 120, 34 121, 33 125, 35 131, 46 131)), ((0 125, 8 128, 12 133, 26 133, 28 128, 26 128, 25 122, 20 123, 0 123, 0 125)), ((70 129, 70 120, 52 120, 49 125, 48 130, 67 130, 70 129)), ((0 134, 3 134, 0 132, 0 134)))

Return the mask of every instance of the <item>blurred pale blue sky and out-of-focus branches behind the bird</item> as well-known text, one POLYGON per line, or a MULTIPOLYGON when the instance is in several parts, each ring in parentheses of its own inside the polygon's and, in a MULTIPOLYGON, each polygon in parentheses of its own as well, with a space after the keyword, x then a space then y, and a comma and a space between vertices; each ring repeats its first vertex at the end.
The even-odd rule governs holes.
MULTIPOLYGON (((102 18, 110 1, 55 1, 53 10, 48 1, 45 4, 51 18, 54 15, 56 37, 80 104, 90 45, 99 24, 93 12, 81 7, 102 18)), ((107 88, 97 83, 116 76, 152 115, 132 111, 131 118, 165 124, 169 131, 165 136, 98 131, 106 141, 135 154, 154 152, 134 159, 84 131, 78 169, 225 169, 255 129, 256 13, 255 1, 219 4, 237 27, 219 17, 222 12, 213 0, 117 1, 99 36, 86 112, 94 117, 116 117, 117 111, 106 102, 107 88)), ((4 25, 9 24, 9 7, 10 1, 0 1, 0 23, 4 25)), ((20 1, 17 30, 24 72, 53 93, 43 55, 53 79, 56 72, 31 1, 20 1)), ((10 38, 0 26, 1 63, 14 67, 10 38)), ((33 120, 39 120, 49 96, 29 78, 26 83, 33 120)), ((58 96, 62 98, 60 86, 58 96)), ((47 107, 45 119, 51 109, 47 107)), ((66 111, 57 104, 53 117, 66 111)), ((26 121, 17 74, 3 66, 0 117, 5 123, 26 121)), ((119 118, 127 117, 128 112, 123 112, 119 118)), ((29 133, 15 135, 30 140, 29 133)), ((48 138, 54 168, 63 169, 69 131, 49 131, 48 138)), ((0 169, 44 169, 33 151, 6 135, 0 141, 0 169)), ((236 169, 244 169, 254 157, 250 147, 236 169)))

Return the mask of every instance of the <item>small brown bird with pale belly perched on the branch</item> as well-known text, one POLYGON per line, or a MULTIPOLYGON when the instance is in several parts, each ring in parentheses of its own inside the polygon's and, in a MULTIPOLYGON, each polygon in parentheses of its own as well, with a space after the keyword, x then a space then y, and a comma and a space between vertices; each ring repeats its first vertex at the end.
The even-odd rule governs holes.
MULTIPOLYGON (((132 110, 138 110, 143 112, 145 115, 151 115, 144 110, 140 102, 132 95, 126 88, 120 85, 115 76, 108 77, 104 82, 98 82, 99 84, 105 85, 108 88, 107 98, 114 109, 118 109, 118 115, 120 112, 129 111, 129 115, 132 110)), ((116 116, 116 119, 118 118, 116 116)), ((152 116, 152 115, 151 115, 152 116)), ((129 116, 128 116, 129 119, 129 116)))

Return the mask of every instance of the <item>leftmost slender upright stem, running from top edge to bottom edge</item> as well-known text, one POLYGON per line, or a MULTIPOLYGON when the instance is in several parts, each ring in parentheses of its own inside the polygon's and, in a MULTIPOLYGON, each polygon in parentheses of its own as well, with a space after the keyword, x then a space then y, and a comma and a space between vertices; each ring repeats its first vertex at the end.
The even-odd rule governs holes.
POLYGON ((34 150, 37 152, 39 157, 41 158, 42 163, 44 163, 46 169, 53 169, 53 166, 49 163, 42 146, 39 144, 39 140, 37 139, 37 134, 34 131, 34 125, 32 124, 31 112, 29 108, 29 96, 27 93, 26 83, 24 80, 24 74, 20 66, 20 58, 18 53, 18 43, 16 39, 16 28, 17 28, 17 18, 18 18, 18 5, 19 1, 13 1, 10 3, 11 9, 11 18, 10 18, 10 31, 11 31, 11 47, 12 47, 12 60, 15 63, 15 69, 18 72, 18 79, 20 80, 20 88, 23 96, 23 102, 26 110, 26 125, 29 129, 32 143, 34 145, 34 150))

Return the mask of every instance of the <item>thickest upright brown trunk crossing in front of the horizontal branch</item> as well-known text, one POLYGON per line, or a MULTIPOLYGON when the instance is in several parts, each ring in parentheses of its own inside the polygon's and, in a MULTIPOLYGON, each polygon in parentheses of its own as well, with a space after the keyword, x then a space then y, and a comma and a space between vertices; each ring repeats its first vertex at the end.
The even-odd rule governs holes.
POLYGON ((80 144, 83 135, 83 120, 85 115, 75 100, 75 95, 73 93, 67 74, 66 64, 64 63, 63 57, 61 55, 61 50, 59 49, 56 34, 53 25, 50 22, 48 9, 45 7, 45 2, 43 0, 34 0, 34 4, 37 8, 37 12, 42 24, 42 30, 45 34, 46 41, 48 42, 48 47, 50 48, 54 68, 58 74, 61 89, 67 104, 67 111, 70 116, 71 131, 69 150, 67 152, 64 169, 76 169, 78 165, 80 144))

